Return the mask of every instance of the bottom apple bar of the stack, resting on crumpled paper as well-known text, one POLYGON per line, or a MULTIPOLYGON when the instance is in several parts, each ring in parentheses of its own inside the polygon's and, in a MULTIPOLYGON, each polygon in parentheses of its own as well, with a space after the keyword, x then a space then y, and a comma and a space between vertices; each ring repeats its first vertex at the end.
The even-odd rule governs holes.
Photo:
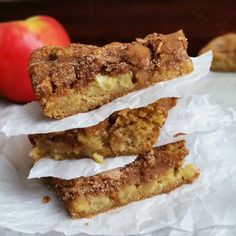
POLYGON ((192 164, 183 166, 187 155, 185 142, 179 141, 153 148, 124 167, 91 177, 47 177, 45 181, 64 201, 72 218, 90 217, 192 183, 199 170, 192 164))

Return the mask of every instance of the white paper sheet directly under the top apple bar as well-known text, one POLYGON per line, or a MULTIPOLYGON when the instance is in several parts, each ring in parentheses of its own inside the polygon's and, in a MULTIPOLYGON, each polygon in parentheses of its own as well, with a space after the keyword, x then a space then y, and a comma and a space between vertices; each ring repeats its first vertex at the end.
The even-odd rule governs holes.
POLYGON ((92 110, 80 113, 62 120, 45 118, 36 102, 19 107, 1 131, 7 136, 34 133, 49 133, 73 128, 84 128, 98 124, 113 112, 125 108, 144 107, 163 97, 182 97, 186 91, 201 83, 202 77, 208 74, 212 53, 208 52, 193 58, 194 71, 174 80, 158 83, 152 87, 139 90, 127 96, 117 98, 112 102, 92 110))

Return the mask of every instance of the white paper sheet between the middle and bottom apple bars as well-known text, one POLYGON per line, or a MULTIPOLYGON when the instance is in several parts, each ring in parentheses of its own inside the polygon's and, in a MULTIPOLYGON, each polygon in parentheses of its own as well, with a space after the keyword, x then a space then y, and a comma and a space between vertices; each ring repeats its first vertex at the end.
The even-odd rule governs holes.
MULTIPOLYGON (((209 95, 183 97, 178 100, 176 107, 169 112, 158 142, 154 146, 175 141, 174 135, 179 132, 185 134, 208 132, 227 126, 232 120, 232 115, 225 114, 219 105, 209 102, 209 95)), ((183 137, 178 137, 178 139, 183 139, 183 137)), ((53 176, 62 179, 73 179, 81 176, 91 176, 124 166, 134 159, 135 156, 108 158, 105 159, 103 164, 97 164, 89 159, 56 161, 44 158, 34 165, 29 178, 53 176)))

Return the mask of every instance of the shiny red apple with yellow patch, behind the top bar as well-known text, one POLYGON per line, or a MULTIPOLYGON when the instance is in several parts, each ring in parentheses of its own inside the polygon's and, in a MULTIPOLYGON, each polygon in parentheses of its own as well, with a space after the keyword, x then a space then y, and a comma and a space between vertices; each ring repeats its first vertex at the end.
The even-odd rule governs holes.
POLYGON ((34 100, 27 68, 30 53, 44 45, 69 43, 65 29, 52 17, 0 23, 0 96, 15 102, 34 100))

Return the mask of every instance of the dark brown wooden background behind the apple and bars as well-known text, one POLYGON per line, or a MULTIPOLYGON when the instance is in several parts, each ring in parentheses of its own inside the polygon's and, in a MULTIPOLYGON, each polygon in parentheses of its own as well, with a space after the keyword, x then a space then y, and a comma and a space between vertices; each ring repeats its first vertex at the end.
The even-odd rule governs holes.
POLYGON ((195 56, 212 38, 236 32, 235 9, 235 0, 0 0, 0 22, 50 15, 72 41, 97 45, 183 29, 195 56))

